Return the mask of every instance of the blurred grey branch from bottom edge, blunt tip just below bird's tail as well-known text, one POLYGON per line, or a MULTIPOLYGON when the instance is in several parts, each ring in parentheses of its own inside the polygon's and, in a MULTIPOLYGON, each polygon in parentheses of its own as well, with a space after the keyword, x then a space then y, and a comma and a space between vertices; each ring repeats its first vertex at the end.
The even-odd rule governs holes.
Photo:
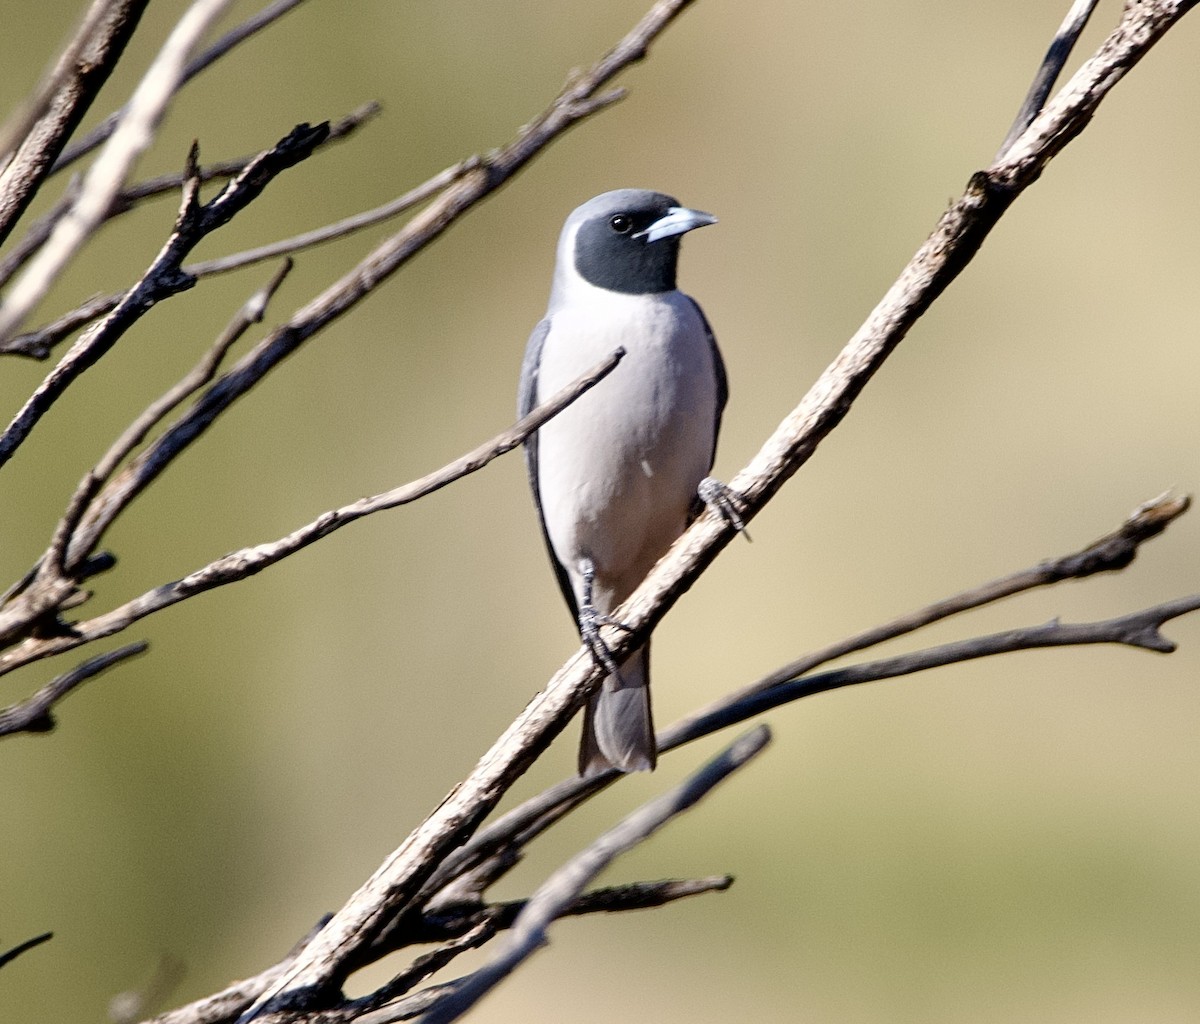
POLYGON ((635 810, 595 843, 554 872, 529 898, 512 924, 504 950, 438 1000, 422 1018, 424 1024, 450 1024, 479 1002, 523 960, 546 944, 546 929, 564 909, 578 899, 584 886, 618 856, 658 832, 677 814, 694 807, 718 783, 728 778, 770 739, 764 725, 727 747, 676 789, 635 810))

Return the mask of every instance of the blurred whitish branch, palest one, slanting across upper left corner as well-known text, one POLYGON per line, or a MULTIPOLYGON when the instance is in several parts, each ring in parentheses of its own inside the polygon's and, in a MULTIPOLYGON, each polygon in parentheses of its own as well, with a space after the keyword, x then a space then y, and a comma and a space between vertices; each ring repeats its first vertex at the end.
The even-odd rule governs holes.
POLYGON ((13 283, 0 307, 0 342, 19 329, 62 268, 104 218, 133 167, 155 137, 167 104, 179 89, 187 54, 232 0, 193 0, 154 59, 108 140, 88 170, 79 198, 55 224, 49 240, 13 283))

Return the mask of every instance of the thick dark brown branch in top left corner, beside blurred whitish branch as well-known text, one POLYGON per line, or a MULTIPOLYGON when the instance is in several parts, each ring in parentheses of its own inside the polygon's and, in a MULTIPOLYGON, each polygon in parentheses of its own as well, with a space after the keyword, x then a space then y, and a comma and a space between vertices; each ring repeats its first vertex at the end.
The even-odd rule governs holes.
POLYGON ((108 80, 146 2, 94 0, 24 115, 5 128, 0 138, 0 244, 108 80))

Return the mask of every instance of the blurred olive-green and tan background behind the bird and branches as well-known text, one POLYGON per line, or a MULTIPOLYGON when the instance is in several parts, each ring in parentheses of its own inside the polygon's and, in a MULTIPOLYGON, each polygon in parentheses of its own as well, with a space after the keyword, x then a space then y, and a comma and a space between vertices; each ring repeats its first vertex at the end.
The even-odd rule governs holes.
MULTIPOLYGON (((150 6, 89 124, 185 6, 150 6)), ((509 140, 646 6, 311 0, 184 91, 138 175, 179 169, 193 138, 206 161, 239 156, 379 100, 380 119, 196 256, 316 227, 509 140)), ((990 161, 1066 6, 697 4, 622 78, 628 100, 310 342, 142 498, 112 534, 121 563, 95 610, 505 427, 558 229, 607 188, 720 217, 688 239, 680 281, 725 353, 716 472, 731 478, 990 161)), ((1081 55, 1118 7, 1100 5, 1081 55)), ((80 10, 46 0, 6 19, 5 112, 80 10)), ((1115 90, 755 521, 754 544, 731 545, 664 622, 660 723, 1200 487, 1198 43, 1200 16, 1115 90)), ((133 281, 174 211, 168 198, 106 229, 38 321, 133 281)), ((301 254, 268 321, 388 230, 301 254)), ((55 406, 4 473, 5 583, 110 438, 270 273, 154 310, 55 406)), ((6 420, 47 369, 5 361, 6 420)), ((1123 574, 889 649, 1106 618, 1198 586, 1193 513, 1123 574)), ((562 922, 472 1019, 1195 1022, 1200 616, 1166 631, 1171 657, 1022 653, 773 712, 763 757, 602 879, 730 872, 732 890, 562 922)), ((103 1020, 164 957, 186 969, 167 1005, 274 963, 575 649, 517 455, 109 646, 138 637, 150 653, 68 699, 54 733, 0 747, 0 946, 55 933, 4 970, 0 1019, 103 1020)), ((83 657, 5 678, 0 702, 83 657)), ((728 738, 594 801, 497 894, 526 894, 728 738)), ((575 743, 572 726, 514 798, 569 773, 575 743)))

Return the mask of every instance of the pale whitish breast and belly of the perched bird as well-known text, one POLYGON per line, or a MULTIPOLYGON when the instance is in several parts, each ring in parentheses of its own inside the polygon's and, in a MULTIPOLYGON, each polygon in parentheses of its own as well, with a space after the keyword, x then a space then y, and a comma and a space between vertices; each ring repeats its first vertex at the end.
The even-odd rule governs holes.
POLYGON ((593 559, 595 604, 605 611, 686 526, 712 463, 716 372, 703 319, 685 295, 594 291, 552 315, 539 400, 618 346, 626 355, 539 431, 538 462, 554 552, 572 581, 578 558, 593 559))

